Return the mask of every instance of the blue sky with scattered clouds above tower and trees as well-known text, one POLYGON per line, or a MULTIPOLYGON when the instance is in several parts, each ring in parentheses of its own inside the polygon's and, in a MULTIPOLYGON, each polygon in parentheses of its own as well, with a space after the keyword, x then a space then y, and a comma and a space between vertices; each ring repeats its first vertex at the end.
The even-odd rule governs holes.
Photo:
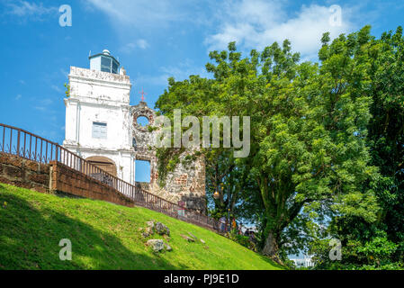
POLYGON ((0 122, 61 143, 64 84, 70 66, 89 67, 88 54, 109 49, 132 81, 131 104, 144 88, 154 107, 168 76, 208 76, 212 49, 237 40, 244 52, 292 40, 303 59, 316 60, 319 38, 371 24, 373 35, 403 25, 403 1, 0 0, 0 122), (61 27, 58 8, 72 8, 61 27), (342 8, 331 26, 329 7, 342 8))

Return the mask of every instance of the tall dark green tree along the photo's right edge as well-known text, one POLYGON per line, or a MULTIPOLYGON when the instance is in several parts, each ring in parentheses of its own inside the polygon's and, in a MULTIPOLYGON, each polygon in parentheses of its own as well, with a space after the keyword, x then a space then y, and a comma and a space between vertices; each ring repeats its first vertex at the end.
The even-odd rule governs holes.
POLYGON ((375 189, 382 206, 380 223, 399 245, 392 261, 404 263, 404 38, 402 28, 382 34, 369 49, 372 56, 373 115, 369 147, 381 179, 375 189))

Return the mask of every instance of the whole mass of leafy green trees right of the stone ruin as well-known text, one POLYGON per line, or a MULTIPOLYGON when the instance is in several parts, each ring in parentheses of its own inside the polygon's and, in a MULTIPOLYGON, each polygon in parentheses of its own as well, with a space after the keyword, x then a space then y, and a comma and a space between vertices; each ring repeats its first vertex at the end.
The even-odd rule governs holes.
MULTIPOLYGON (((383 223, 384 234, 368 238, 372 245, 402 243, 401 31, 375 40, 365 26, 331 42, 325 33, 319 63, 301 62, 289 40, 252 49, 245 58, 230 42, 227 50, 210 53, 212 78, 170 78, 156 103, 169 117, 174 109, 200 119, 250 117, 248 157, 232 157, 234 148, 198 150, 206 161, 211 215, 230 208, 255 220, 262 253, 280 262, 310 247, 329 265, 321 261, 326 239, 356 241, 364 229, 355 234, 349 227, 358 223, 367 231, 383 223), (214 191, 218 200, 211 198, 214 191)), ((160 149, 158 157, 161 175, 178 161, 172 148, 160 149)))

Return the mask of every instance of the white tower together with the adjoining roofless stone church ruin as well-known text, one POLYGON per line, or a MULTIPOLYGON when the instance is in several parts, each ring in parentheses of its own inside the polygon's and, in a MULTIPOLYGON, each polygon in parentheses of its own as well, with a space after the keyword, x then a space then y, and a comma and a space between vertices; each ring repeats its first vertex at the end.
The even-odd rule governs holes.
POLYGON ((63 146, 122 180, 149 193, 197 211, 206 211, 203 159, 192 166, 179 164, 158 184, 155 147, 158 130, 139 123, 145 117, 153 126, 156 112, 147 103, 130 105, 130 76, 108 50, 89 57, 90 68, 70 67, 63 146), (150 164, 150 182, 135 178, 136 160, 150 164))

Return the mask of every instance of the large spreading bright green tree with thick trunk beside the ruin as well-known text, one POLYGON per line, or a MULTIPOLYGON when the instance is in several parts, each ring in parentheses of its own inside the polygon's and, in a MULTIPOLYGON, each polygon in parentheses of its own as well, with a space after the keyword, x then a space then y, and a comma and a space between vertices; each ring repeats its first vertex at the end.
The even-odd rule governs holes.
POLYGON ((352 58, 363 49, 362 33, 341 36, 329 49, 326 35, 321 67, 300 64, 288 40, 253 49, 247 58, 231 42, 228 50, 210 53, 214 63, 206 68, 213 79, 172 79, 157 101, 166 114, 182 108, 196 116, 251 117, 250 154, 235 165, 248 172, 238 176, 254 180, 250 193, 261 202, 262 252, 275 260, 291 244, 285 236, 303 209, 319 219, 344 214, 375 220, 373 191, 364 189, 376 175, 365 146, 371 98, 360 89, 368 67, 352 58), (353 78, 357 85, 347 85, 353 78))

